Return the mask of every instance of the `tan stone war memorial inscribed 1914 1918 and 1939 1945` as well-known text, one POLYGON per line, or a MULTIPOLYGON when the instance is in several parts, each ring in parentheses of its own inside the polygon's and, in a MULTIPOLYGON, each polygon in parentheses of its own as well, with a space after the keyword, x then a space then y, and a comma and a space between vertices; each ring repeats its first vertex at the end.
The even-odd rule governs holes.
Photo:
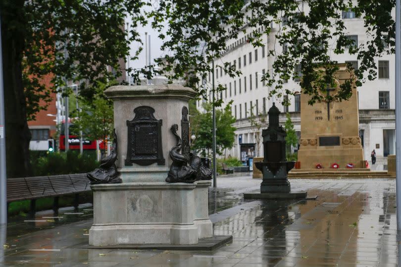
MULTIPOLYGON (((350 78, 345 64, 336 72, 338 86, 350 78)), ((334 95, 339 87, 329 88, 334 95)), ((359 116, 356 89, 348 101, 308 105, 310 96, 301 94, 301 146, 298 160, 301 169, 313 169, 317 164, 330 168, 333 163, 346 168, 348 163, 362 168, 363 149, 359 138, 359 116)))

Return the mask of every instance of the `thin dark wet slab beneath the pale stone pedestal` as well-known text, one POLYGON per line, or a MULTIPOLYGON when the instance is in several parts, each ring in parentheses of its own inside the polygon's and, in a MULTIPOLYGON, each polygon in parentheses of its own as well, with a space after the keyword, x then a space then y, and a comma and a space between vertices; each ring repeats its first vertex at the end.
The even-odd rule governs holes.
POLYGON ((187 250, 187 251, 212 251, 233 241, 232 235, 214 235, 213 237, 200 238, 194 245, 172 244, 117 244, 106 246, 81 246, 83 249, 158 249, 158 250, 187 250))

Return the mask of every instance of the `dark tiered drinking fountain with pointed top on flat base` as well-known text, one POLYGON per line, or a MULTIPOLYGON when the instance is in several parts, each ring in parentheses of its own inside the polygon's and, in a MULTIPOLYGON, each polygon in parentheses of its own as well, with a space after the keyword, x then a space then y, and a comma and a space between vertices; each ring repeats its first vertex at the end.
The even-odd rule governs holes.
POLYGON ((263 153, 261 162, 255 162, 255 166, 263 173, 260 184, 260 192, 244 193, 244 198, 305 198, 306 192, 292 192, 288 181, 288 172, 294 168, 295 161, 286 159, 287 133, 279 125, 280 110, 273 103, 269 109, 269 126, 263 129, 263 153))

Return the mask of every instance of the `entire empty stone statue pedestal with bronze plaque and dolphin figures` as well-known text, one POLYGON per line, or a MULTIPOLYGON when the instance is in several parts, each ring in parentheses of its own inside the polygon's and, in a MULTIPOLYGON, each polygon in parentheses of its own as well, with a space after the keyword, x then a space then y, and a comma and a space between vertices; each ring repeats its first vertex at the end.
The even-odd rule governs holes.
POLYGON ((213 237, 212 170, 189 145, 188 101, 196 92, 168 84, 113 86, 104 93, 113 100, 114 142, 110 156, 88 173, 94 194, 89 247, 198 244, 207 250, 232 240, 213 237))

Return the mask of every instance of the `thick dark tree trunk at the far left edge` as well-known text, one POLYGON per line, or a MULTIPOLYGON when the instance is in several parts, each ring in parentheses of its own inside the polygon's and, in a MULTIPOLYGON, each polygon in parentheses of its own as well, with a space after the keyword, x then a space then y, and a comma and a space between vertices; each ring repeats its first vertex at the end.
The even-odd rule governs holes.
MULTIPOLYGON (((25 46, 24 0, 1 4, 1 41, 5 102, 5 144, 7 177, 30 174, 26 99, 22 82, 22 56, 25 46)), ((1 111, 0 111, 1 112, 1 111)))

